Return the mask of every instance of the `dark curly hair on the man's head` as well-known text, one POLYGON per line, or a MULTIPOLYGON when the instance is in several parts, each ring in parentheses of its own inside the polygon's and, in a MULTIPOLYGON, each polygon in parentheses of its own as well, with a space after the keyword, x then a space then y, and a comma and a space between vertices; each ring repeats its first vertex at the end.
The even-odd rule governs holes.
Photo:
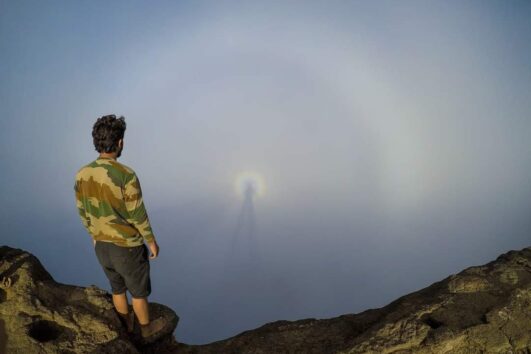
POLYGON ((125 134, 125 118, 116 118, 114 114, 96 120, 92 127, 92 139, 97 152, 118 151, 118 141, 125 134))

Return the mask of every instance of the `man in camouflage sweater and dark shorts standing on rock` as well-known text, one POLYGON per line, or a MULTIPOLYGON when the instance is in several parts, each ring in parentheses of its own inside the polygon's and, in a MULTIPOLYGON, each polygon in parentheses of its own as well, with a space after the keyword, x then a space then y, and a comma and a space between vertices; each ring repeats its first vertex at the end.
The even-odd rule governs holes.
POLYGON ((150 321, 147 297, 151 293, 149 259, 159 254, 159 246, 142 200, 136 173, 121 164, 125 133, 124 117, 98 118, 92 137, 99 157, 78 170, 75 180, 76 204, 83 225, 92 236, 95 253, 109 279, 115 310, 128 332, 134 315, 141 335, 153 339, 165 325, 162 318, 150 321), (147 243, 151 255, 148 259, 147 243), (132 297, 129 312, 126 290, 132 297))

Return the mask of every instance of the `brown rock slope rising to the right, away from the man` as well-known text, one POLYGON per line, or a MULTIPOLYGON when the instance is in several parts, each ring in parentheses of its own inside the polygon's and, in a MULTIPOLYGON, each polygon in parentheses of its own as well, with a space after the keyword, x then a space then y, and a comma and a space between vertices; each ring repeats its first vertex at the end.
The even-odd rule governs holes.
POLYGON ((531 248, 327 319, 275 321, 174 353, 531 353, 531 248))

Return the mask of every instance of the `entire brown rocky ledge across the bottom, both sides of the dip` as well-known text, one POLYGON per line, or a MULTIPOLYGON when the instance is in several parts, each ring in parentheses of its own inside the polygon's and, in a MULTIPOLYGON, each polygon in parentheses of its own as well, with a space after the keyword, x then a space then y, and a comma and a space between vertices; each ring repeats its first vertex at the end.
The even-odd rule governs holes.
POLYGON ((59 284, 31 254, 0 247, 0 353, 531 353, 531 247, 509 251, 379 309, 275 321, 205 345, 124 333, 110 295, 59 284))

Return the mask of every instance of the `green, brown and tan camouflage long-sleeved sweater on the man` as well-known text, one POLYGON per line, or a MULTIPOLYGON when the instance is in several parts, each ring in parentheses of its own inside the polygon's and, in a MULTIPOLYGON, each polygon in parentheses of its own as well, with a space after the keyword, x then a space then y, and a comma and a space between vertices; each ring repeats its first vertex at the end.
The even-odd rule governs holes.
POLYGON ((83 225, 96 241, 133 247, 154 240, 136 173, 99 157, 76 173, 76 204, 83 225))

